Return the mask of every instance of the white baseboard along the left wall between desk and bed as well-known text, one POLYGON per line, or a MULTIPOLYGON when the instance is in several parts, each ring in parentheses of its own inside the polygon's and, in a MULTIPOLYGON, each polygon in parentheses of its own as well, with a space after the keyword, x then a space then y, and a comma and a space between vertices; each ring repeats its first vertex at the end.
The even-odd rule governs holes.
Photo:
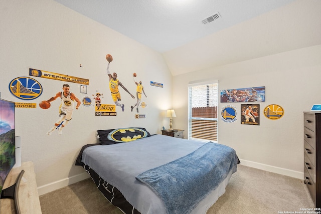
POLYGON ((52 183, 48 183, 46 185, 38 187, 38 194, 39 195, 46 194, 46 193, 54 191, 56 189, 60 189, 62 187, 68 186, 70 184, 82 181, 82 180, 87 179, 89 177, 90 177, 90 175, 87 172, 84 172, 81 174, 74 175, 72 177, 67 177, 67 178, 64 178, 61 180, 57 180, 52 183))

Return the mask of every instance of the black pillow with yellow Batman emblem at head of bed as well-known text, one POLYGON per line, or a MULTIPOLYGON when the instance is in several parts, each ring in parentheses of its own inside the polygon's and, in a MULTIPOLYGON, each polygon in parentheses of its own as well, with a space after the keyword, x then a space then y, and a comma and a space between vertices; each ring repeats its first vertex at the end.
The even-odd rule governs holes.
POLYGON ((108 130, 98 130, 100 144, 109 145, 115 143, 125 143, 144 137, 149 137, 149 132, 144 128, 118 128, 108 130))

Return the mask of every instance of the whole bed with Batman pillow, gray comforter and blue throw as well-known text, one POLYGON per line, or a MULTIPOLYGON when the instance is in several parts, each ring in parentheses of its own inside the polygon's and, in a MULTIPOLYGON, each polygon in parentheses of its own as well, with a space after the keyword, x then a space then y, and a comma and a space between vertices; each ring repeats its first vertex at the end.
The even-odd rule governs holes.
POLYGON ((218 143, 136 127, 97 133, 99 143, 84 145, 76 165, 124 213, 206 213, 239 163, 234 149, 218 143))

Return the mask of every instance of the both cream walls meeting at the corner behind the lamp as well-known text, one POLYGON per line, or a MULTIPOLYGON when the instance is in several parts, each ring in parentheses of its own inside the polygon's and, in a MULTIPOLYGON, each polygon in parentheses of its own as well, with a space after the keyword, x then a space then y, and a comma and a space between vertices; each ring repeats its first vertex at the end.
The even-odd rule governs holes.
MULTIPOLYGON (((261 116, 260 126, 241 125, 239 119, 224 123, 219 118, 219 142, 233 147, 243 164, 294 177, 302 175, 302 111, 321 103, 318 96, 321 46, 213 67, 175 76, 172 80, 160 54, 52 0, 1 0, 1 5, 3 99, 39 103, 61 90, 62 81, 35 78, 43 86, 39 98, 24 101, 14 97, 8 89, 10 81, 29 76, 29 68, 34 68, 87 78, 90 84, 86 96, 98 90, 103 93, 103 102, 113 104, 105 71, 107 53, 114 58, 110 70, 118 73, 123 85, 135 91, 129 78, 135 72, 148 96, 142 98, 148 106, 140 112, 146 114, 146 119, 134 119, 135 112, 130 112, 129 106, 135 100, 120 89, 125 112, 117 110, 116 117, 96 117, 93 106, 81 105, 61 136, 46 135, 58 119, 59 101, 54 101, 48 110, 17 108, 16 135, 21 136, 22 161, 34 162, 40 194, 87 176, 74 162, 83 145, 96 142, 97 129, 140 126, 152 134, 159 133, 162 126, 169 126, 165 110, 173 107, 177 115, 173 119, 174 128, 186 130, 187 136, 187 84, 204 79, 218 80, 220 89, 265 86, 266 101, 260 103, 261 115, 269 104, 281 105, 285 115, 277 121, 261 116), (150 81, 163 83, 164 88, 152 87, 150 81)), ((80 94, 80 85, 69 84, 81 99, 84 95, 80 94)), ((219 110, 224 105, 219 103, 219 110)), ((240 109, 240 103, 234 106, 240 109)))

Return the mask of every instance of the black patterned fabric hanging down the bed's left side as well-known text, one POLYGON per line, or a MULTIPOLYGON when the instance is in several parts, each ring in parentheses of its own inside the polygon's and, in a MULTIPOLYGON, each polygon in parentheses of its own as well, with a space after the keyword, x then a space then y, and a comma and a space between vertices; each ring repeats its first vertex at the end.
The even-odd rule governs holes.
POLYGON ((106 197, 106 199, 117 206, 120 210, 122 210, 126 214, 140 214, 140 212, 135 209, 123 196, 123 194, 113 185, 110 185, 104 179, 102 179, 93 169, 89 166, 82 164, 84 169, 91 176, 93 181, 95 182, 99 191, 106 197))

